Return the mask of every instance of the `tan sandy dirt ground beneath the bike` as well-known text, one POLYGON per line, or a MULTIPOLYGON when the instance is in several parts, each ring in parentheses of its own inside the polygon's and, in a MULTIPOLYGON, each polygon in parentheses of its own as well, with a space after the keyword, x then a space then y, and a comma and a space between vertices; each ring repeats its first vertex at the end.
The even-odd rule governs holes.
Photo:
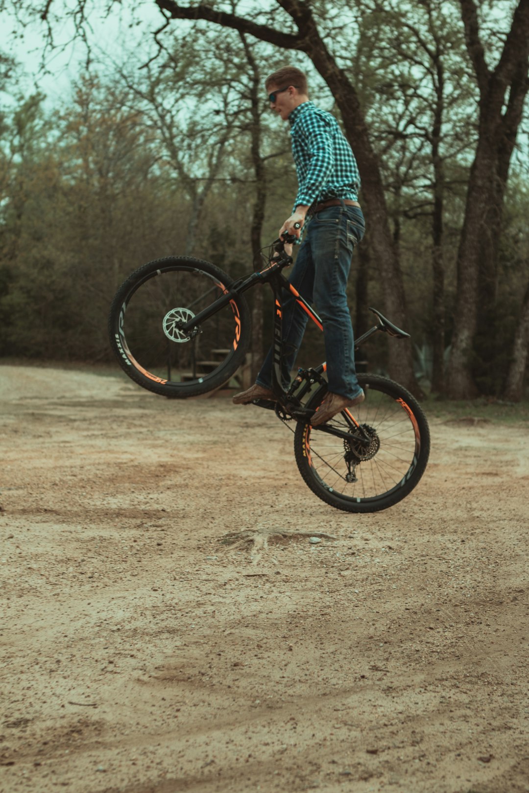
POLYGON ((431 421, 356 516, 259 408, 16 366, 0 399, 2 793, 529 791, 527 427, 431 421))

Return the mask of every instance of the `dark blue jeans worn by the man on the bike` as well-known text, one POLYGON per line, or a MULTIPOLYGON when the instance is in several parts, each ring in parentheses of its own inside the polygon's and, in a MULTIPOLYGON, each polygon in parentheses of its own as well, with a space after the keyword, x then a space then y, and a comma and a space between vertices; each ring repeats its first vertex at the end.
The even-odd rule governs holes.
MULTIPOLYGON (((308 303, 316 305, 324 326, 329 391, 354 399, 361 389, 355 370, 355 343, 347 306, 347 278, 355 245, 364 236, 362 210, 341 204, 321 209, 306 226, 289 282, 308 303)), ((288 388, 290 370, 309 317, 289 294, 282 316, 282 386, 288 388)), ((259 385, 272 385, 273 351, 270 348, 257 376, 259 385)))

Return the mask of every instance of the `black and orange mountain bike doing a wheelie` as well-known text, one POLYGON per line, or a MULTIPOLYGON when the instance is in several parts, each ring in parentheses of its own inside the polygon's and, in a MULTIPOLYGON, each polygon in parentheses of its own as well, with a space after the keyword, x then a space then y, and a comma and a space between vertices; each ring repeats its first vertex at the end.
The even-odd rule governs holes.
MULTIPOLYGON (((293 239, 276 239, 263 270, 236 280, 216 265, 190 257, 141 266, 117 290, 110 308, 113 351, 128 377, 163 397, 185 399, 218 389, 243 364, 250 344, 243 293, 269 283, 274 297, 272 387, 278 401, 255 404, 273 409, 287 426, 295 420, 297 467, 316 496, 343 511, 386 509, 408 496, 424 473, 430 451, 426 416, 401 385, 359 374, 366 400, 355 413, 347 409, 312 427, 311 416, 327 393, 325 363, 298 369, 289 389, 282 388, 282 291, 292 293, 323 330, 320 317, 282 274, 292 264, 284 244, 293 239)), ((357 340, 355 350, 377 331, 409 338, 376 308, 370 311, 378 322, 357 340)))

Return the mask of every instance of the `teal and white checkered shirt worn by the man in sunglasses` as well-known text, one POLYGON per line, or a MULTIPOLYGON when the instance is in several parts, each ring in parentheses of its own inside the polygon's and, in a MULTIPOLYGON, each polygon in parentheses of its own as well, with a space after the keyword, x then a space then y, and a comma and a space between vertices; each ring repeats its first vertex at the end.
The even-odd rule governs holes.
POLYGON ((329 198, 358 201, 355 155, 331 113, 303 102, 290 113, 289 122, 298 182, 294 209, 329 198))

